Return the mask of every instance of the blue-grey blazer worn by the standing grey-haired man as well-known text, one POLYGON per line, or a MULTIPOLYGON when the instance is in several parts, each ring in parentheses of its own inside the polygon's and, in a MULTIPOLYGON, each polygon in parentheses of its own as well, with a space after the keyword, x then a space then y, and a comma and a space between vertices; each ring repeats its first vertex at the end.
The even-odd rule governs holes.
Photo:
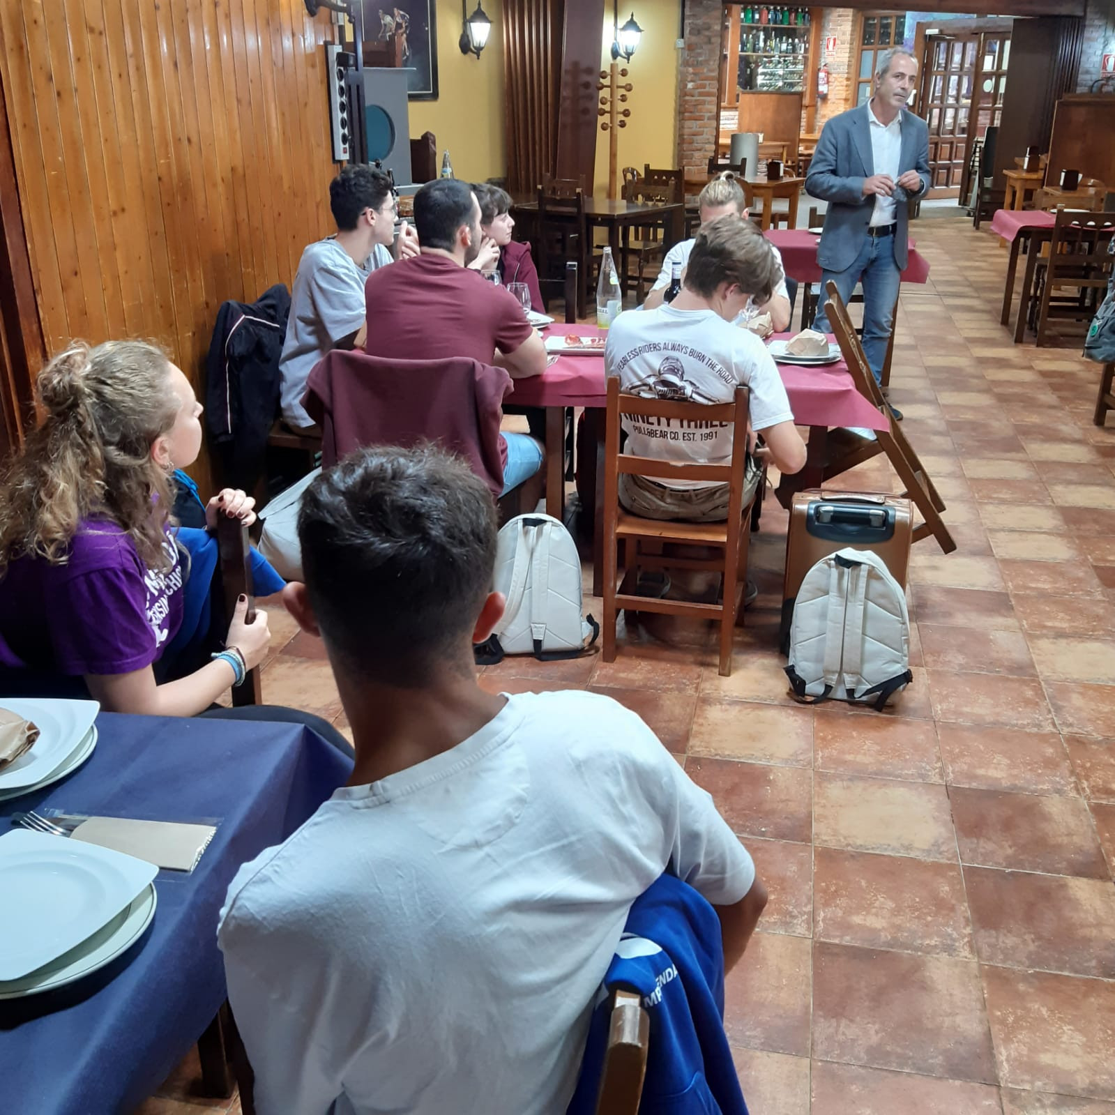
MULTIPOLYGON (((825 231, 817 249, 817 262, 826 271, 844 271, 855 261, 867 234, 875 195, 863 196, 863 180, 874 174, 871 153, 870 109, 866 105, 850 108, 828 120, 817 149, 809 163, 805 188, 814 197, 828 202, 825 231)), ((921 190, 906 193, 901 186, 894 191, 894 262, 906 265, 906 201, 920 197, 929 190, 929 127, 920 116, 902 109, 902 152, 899 174, 917 171, 921 175, 921 190)))

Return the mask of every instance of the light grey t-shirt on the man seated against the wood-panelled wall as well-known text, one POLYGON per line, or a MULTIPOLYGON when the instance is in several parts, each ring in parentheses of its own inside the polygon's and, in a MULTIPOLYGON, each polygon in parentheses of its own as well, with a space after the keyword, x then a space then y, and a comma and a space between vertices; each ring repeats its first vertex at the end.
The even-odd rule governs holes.
POLYGON ((282 416, 291 426, 313 425, 302 409, 306 381, 313 366, 338 341, 351 337, 363 324, 363 284, 372 271, 390 262, 391 253, 377 244, 361 266, 336 236, 319 240, 302 252, 279 358, 282 416))

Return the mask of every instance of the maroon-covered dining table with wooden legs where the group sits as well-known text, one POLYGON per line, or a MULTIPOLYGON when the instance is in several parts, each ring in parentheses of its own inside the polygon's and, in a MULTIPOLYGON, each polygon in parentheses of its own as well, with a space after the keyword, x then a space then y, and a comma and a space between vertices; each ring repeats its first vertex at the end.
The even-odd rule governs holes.
MULTIPOLYGON (((607 330, 594 326, 568 326, 555 322, 547 326, 544 336, 607 337, 607 330)), ((791 333, 775 333, 772 340, 784 340, 791 333)), ((832 338, 830 338, 832 339, 832 338)), ((813 367, 777 365, 794 421, 809 427, 808 458, 805 468, 795 474, 795 491, 818 487, 826 459, 828 430, 837 427, 860 429, 889 429, 888 418, 875 409, 855 387, 843 359, 813 367)), ((562 521, 564 517, 564 454, 556 447, 563 444, 565 410, 583 407, 585 437, 583 444, 590 452, 578 462, 583 472, 579 485, 591 500, 582 506, 585 522, 593 525, 592 594, 603 592, 603 453, 607 407, 603 352, 588 355, 558 355, 539 376, 514 380, 507 399, 520 406, 543 407, 546 411, 546 514, 562 521)))

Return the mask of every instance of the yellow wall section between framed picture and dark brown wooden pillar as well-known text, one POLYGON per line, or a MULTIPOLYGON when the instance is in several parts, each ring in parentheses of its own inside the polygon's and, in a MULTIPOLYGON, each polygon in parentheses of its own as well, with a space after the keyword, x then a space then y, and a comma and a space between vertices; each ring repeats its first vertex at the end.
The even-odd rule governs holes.
MULTIPOLYGON (((437 100, 411 100, 410 135, 437 137, 437 159, 449 149, 453 173, 469 182, 507 173, 503 104, 503 4, 483 0, 492 33, 479 58, 463 55, 460 0, 437 0, 437 100)), ((468 10, 475 7, 471 0, 468 10)))

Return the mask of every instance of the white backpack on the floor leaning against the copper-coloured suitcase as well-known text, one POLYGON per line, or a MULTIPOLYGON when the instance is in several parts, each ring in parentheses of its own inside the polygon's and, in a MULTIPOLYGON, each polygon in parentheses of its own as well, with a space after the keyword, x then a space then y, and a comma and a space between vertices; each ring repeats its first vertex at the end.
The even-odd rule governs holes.
POLYGON ((785 669, 807 704, 874 701, 879 710, 913 680, 905 593, 879 554, 837 550, 805 574, 785 669))

